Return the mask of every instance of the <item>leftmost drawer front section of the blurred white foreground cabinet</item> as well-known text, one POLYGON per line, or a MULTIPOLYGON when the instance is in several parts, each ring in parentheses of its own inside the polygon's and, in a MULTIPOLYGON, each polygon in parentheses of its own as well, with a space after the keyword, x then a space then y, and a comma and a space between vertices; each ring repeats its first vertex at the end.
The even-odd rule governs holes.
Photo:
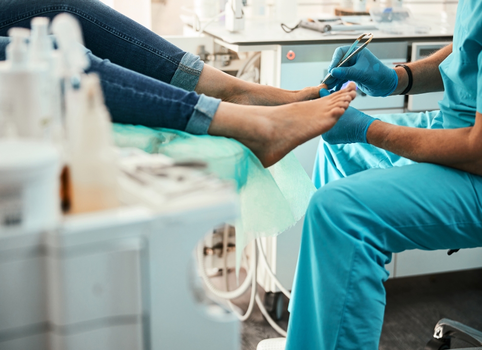
POLYGON ((45 259, 40 233, 0 236, 0 349, 47 348, 45 259))

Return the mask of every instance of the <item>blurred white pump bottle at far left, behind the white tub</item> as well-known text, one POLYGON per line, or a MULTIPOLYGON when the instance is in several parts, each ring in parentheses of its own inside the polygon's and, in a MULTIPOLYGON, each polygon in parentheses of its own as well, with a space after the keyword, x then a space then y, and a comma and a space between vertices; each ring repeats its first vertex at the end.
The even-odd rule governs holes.
MULTIPOLYGON (((42 137, 42 71, 28 64, 26 39, 30 31, 10 28, 7 60, 0 65, 0 119, 13 123, 21 137, 42 137)), ((5 136, 4 130, 0 130, 5 136)))

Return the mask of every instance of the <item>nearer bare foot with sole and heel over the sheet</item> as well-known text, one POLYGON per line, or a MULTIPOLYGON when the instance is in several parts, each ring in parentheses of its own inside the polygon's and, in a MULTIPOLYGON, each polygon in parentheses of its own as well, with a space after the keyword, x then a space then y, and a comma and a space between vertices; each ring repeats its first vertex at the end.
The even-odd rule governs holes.
POLYGON ((326 97, 276 107, 221 102, 208 132, 235 138, 268 167, 333 127, 355 98, 355 89, 352 83, 326 97))

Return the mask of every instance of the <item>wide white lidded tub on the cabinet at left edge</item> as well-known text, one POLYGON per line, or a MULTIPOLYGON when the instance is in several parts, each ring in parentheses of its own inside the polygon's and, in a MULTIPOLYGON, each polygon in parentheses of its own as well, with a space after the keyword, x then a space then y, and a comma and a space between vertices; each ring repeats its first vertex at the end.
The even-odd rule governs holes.
POLYGON ((0 141, 0 232, 55 227, 59 208, 57 150, 25 139, 0 141))

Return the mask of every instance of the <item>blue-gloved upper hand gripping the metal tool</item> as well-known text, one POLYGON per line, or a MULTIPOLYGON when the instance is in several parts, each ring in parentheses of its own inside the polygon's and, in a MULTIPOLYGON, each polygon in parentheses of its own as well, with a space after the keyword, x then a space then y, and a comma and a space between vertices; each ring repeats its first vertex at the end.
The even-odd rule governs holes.
POLYGON ((370 50, 364 48, 347 63, 339 68, 334 68, 350 46, 341 46, 335 50, 333 59, 328 67, 332 78, 326 82, 328 87, 339 90, 341 85, 351 80, 357 87, 369 96, 388 96, 398 85, 395 69, 387 67, 370 50))

